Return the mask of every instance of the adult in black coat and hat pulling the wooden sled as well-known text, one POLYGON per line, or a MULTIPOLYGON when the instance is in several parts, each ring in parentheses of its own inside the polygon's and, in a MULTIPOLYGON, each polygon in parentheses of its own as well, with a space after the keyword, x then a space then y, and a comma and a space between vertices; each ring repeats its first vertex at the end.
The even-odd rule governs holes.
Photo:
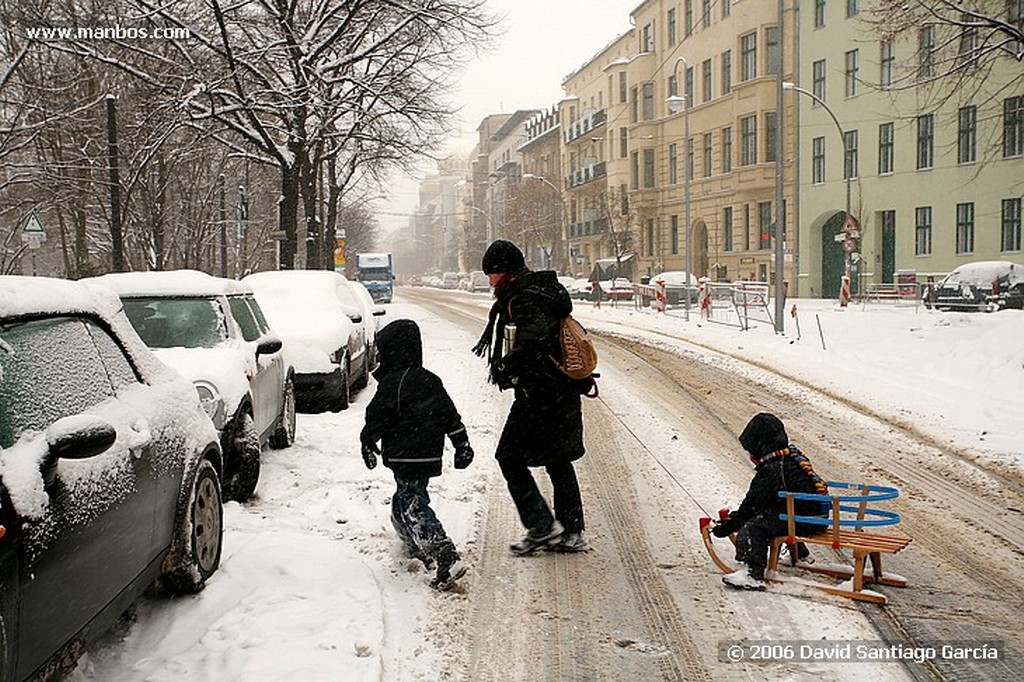
POLYGON ((558 369, 558 330, 572 311, 572 299, 551 270, 526 267, 522 252, 498 240, 487 247, 481 269, 490 279, 497 301, 474 351, 488 357, 490 380, 512 388, 515 400, 495 457, 527 532, 512 545, 516 554, 542 548, 565 552, 588 549, 584 538, 583 499, 573 462, 584 455, 581 393, 591 386, 558 369), (505 352, 505 331, 514 335, 505 352), (529 467, 544 467, 554 492, 554 513, 541 495, 529 467))

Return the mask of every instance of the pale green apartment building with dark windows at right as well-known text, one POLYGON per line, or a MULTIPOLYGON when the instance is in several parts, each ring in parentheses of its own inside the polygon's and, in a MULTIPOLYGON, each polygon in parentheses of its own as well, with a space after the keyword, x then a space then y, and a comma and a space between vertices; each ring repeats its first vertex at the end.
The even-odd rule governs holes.
MULTIPOLYGON (((1020 62, 978 29, 926 24, 884 40, 866 2, 799 4, 801 294, 837 296, 847 190, 854 292, 897 273, 925 282, 965 262, 1020 262, 1020 62)), ((1020 25, 1019 1, 975 4, 1020 25)))

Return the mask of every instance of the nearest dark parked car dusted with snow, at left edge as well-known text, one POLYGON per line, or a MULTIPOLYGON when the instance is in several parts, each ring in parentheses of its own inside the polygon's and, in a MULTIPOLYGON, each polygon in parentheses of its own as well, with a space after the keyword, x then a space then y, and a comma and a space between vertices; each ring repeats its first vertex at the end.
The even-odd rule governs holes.
POLYGON ((109 290, 0 276, 0 679, 66 673, 151 585, 220 564, 221 454, 109 290))

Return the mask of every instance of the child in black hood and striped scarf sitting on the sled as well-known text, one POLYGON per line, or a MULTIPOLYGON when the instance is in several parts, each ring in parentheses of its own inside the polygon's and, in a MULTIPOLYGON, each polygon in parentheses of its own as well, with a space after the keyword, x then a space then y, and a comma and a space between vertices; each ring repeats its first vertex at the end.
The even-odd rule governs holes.
MULTIPOLYGON (((786 511, 785 498, 778 497, 779 492, 827 495, 828 486, 803 453, 790 442, 785 427, 775 415, 755 415, 739 434, 739 444, 754 463, 754 478, 739 509, 719 521, 712 532, 718 538, 735 532, 736 560, 746 564, 724 576, 722 582, 730 587, 763 590, 771 539, 787 531, 786 522, 778 517, 786 511)), ((826 513, 821 503, 814 500, 796 500, 795 511, 797 516, 826 513)), ((797 532, 804 536, 825 528, 824 525, 797 523, 797 532)), ((803 546, 800 549, 802 555, 807 551, 803 546)))

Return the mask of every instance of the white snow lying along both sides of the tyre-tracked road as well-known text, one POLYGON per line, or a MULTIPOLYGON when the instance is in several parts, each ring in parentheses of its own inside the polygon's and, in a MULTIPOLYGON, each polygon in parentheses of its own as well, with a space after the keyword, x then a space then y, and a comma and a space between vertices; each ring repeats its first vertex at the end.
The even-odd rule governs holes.
MULTIPOLYGON (((483 295, 462 295, 479 298, 481 311, 487 303, 483 295)), ((457 471, 449 446, 444 474, 430 487, 449 534, 465 547, 479 532, 482 492, 500 484, 493 453, 510 396, 486 383, 482 360, 469 350, 478 331, 403 301, 401 289, 386 307, 385 322, 420 324, 426 367, 444 381, 476 451, 473 465, 457 471)), ((1024 470, 1024 311, 940 313, 912 303, 841 308, 836 301, 795 299, 786 302, 781 335, 770 325, 742 331, 709 324, 695 311, 684 319, 679 311, 658 314, 632 304, 578 302, 575 315, 597 332, 671 332, 695 344, 689 352, 725 353, 762 368, 754 372, 770 368, 1024 470)), ((658 336, 657 343, 670 341, 658 336)), ((383 467, 367 470, 359 457, 358 431, 375 385, 345 412, 299 415, 294 445, 264 451, 256 498, 225 506, 220 569, 206 590, 174 600, 144 597, 128 627, 93 646, 72 679, 437 679, 438 660, 452 652, 435 644, 432 629, 449 600, 472 598, 480 577, 470 565, 465 595, 437 593, 427 585, 430 574, 402 558, 388 520, 393 481, 383 467)), ((721 487, 682 482, 693 491, 721 487)), ((705 506, 734 506, 742 493, 707 499, 705 506)), ((714 585, 710 561, 708 571, 714 585)), ((794 609, 801 613, 801 606, 794 609)), ((856 609, 823 612, 807 607, 804 615, 839 620, 850 638, 878 639, 856 609)), ((846 679, 886 677, 877 667, 852 666, 844 668, 846 679)))

